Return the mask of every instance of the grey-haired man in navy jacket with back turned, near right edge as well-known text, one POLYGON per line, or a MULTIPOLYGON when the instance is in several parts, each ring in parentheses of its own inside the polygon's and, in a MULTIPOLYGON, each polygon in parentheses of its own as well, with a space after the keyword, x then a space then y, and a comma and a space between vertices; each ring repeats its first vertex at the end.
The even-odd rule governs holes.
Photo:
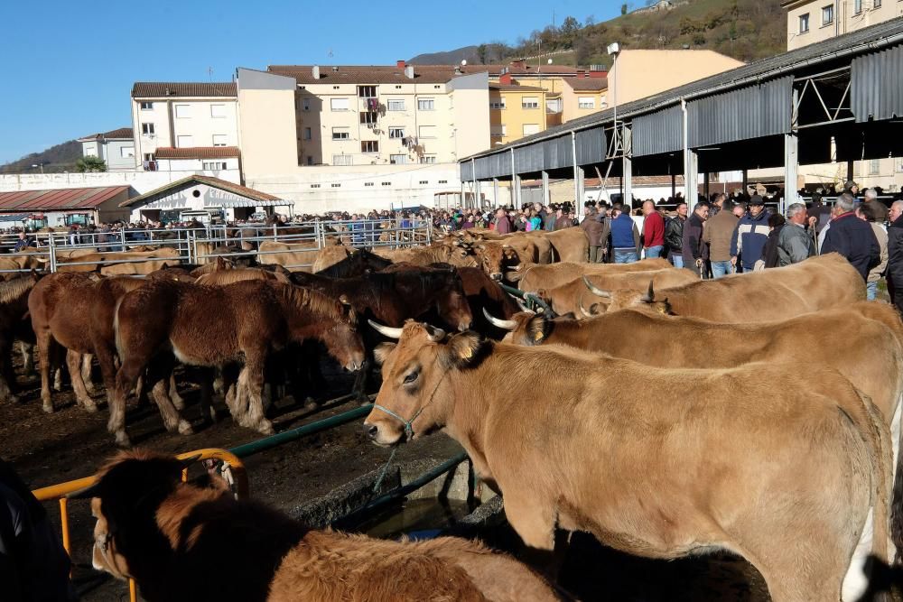
POLYGON ((839 253, 862 275, 862 282, 869 278, 869 270, 881 261, 881 247, 869 222, 856 217, 853 211, 856 199, 844 192, 834 202, 837 216, 824 236, 822 255, 839 253))

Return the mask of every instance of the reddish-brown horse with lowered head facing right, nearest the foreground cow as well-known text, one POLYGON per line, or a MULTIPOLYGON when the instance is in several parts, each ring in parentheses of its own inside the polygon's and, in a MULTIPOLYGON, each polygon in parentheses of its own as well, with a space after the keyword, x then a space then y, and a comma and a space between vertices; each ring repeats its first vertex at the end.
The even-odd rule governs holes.
POLYGON ((148 282, 120 301, 114 329, 122 366, 108 428, 120 445, 129 443, 126 393, 145 367, 153 368, 148 375, 152 384, 168 375, 172 356, 192 366, 243 363, 226 402, 239 425, 266 434, 273 432, 263 410, 264 368, 271 349, 316 338, 349 370, 364 361, 357 316, 349 305, 283 282, 251 280, 222 287, 148 282))

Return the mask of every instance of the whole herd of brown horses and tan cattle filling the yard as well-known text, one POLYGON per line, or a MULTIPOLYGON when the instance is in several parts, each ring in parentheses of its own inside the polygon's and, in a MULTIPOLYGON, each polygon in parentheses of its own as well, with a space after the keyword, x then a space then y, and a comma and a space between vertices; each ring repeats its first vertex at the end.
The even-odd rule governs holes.
MULTIPOLYGON (((727 550, 759 570, 776 602, 855 600, 868 557, 890 563, 903 551, 903 481, 893 486, 903 478, 903 323, 889 304, 862 301, 861 276, 839 255, 701 281, 660 259, 587 264, 579 228, 465 231, 373 253, 273 245, 283 247, 254 267, 220 257, 154 263, 142 279, 61 270, 0 284, 0 395, 14 396, 19 339, 39 349, 48 412, 63 357, 79 405, 98 410, 88 394, 97 361, 119 445, 129 445, 133 390, 152 392, 167 429, 191 433, 176 363, 193 366, 201 418, 216 416, 219 384, 237 424, 268 433, 274 392, 305 399, 325 352, 357 373, 361 402, 381 366, 365 421, 374 442, 447 432, 537 550, 554 549, 556 528, 651 558, 727 550), (303 264, 312 267, 284 267, 303 264), (501 281, 545 311, 528 310, 501 281)), ((199 550, 219 556, 214 544, 232 550, 276 532, 272 547, 241 551, 242 566, 260 571, 245 597, 217 599, 344 599, 367 583, 391 588, 379 590, 386 599, 424 597, 424 584, 431 596, 452 588, 442 599, 554 599, 516 562, 478 546, 313 535, 216 487, 182 485, 180 474, 177 463, 130 452, 85 494, 96 498, 95 564, 134 577, 148 600, 189 599, 173 597, 172 584, 209 584, 204 567, 215 565, 199 550), (129 510, 148 492, 148 512, 129 510), (192 531, 200 504, 228 505, 216 520, 234 515, 246 531, 183 550, 188 533, 204 539, 192 531), (159 540, 148 549, 180 551, 184 564, 117 540, 151 533, 148 524, 159 540), (337 558, 358 568, 323 565, 337 558), (346 589, 319 589, 309 582, 317 570, 346 589)))

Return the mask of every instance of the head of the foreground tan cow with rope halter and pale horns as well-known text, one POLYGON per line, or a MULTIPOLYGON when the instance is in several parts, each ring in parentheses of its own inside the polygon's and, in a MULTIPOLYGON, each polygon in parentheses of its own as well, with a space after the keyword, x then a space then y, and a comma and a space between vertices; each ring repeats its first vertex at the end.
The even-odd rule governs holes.
POLYGON ((450 373, 477 363, 486 344, 473 332, 446 338, 442 330, 411 320, 384 334, 398 342, 374 353, 383 384, 364 430, 377 445, 389 446, 442 428, 455 394, 450 373))

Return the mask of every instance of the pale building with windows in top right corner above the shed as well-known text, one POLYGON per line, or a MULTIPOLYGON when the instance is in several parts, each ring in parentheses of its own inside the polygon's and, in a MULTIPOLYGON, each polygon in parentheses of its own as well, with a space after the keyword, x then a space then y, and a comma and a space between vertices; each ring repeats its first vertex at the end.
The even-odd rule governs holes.
POLYGON ((784 0, 787 50, 822 42, 903 14, 898 0, 784 0))

